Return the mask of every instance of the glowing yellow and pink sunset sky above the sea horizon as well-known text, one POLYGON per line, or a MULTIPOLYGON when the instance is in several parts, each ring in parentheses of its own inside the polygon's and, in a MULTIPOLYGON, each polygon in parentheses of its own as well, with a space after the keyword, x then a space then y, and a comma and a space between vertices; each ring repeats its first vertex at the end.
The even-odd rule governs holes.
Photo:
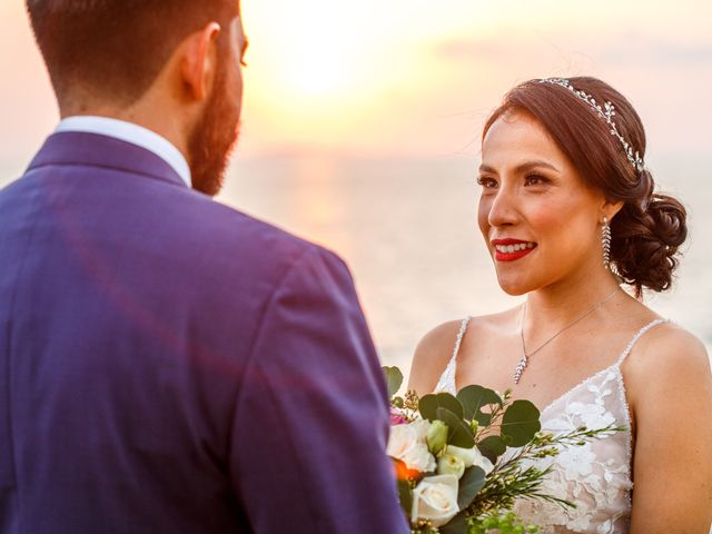
MULTIPOLYGON (((476 154, 482 120, 510 87, 583 73, 633 101, 650 150, 712 150, 708 1, 243 3, 243 158, 476 154)), ((57 111, 22 0, 2 0, 0 16, 0 169, 14 170, 57 111)))

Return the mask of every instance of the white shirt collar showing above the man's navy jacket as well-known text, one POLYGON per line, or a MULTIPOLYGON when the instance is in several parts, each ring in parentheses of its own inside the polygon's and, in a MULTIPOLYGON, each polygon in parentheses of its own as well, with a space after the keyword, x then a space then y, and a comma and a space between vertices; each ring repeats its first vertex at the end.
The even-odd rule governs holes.
POLYGON ((178 172, 188 187, 192 187, 190 167, 180 150, 168 139, 148 128, 108 117, 77 116, 62 119, 55 131, 99 134, 137 145, 164 159, 178 172))

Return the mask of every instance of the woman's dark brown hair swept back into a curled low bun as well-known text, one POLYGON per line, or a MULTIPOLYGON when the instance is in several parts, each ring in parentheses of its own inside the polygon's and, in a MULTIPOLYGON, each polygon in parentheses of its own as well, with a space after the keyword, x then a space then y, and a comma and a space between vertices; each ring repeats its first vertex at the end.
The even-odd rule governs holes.
MULTIPOLYGON (((619 132, 644 158, 645 131, 625 97, 595 78, 568 80, 575 90, 585 91, 597 102, 613 103, 619 132)), ((512 89, 485 123, 483 139, 500 117, 517 110, 530 112, 546 128, 590 186, 610 201, 624 202, 611 221, 614 273, 633 286, 637 296, 643 288, 668 289, 679 248, 688 236, 682 204, 656 192, 651 172, 635 169, 606 121, 571 90, 555 83, 530 80, 512 89)))

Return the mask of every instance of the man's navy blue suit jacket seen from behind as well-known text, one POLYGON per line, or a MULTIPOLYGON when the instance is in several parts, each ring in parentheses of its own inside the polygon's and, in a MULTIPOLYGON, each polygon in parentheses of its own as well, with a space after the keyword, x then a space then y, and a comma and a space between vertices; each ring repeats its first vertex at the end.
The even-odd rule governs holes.
POLYGON ((343 261, 110 137, 0 191, 0 532, 407 531, 343 261))

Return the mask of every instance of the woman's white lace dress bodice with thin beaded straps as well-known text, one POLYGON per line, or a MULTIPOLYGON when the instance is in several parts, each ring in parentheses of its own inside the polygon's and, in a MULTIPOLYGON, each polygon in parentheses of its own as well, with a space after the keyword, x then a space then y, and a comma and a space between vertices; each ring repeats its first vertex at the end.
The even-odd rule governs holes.
MULTIPOLYGON (((455 394, 455 374, 459 345, 469 319, 463 320, 453 357, 436 386, 436 392, 455 394)), ((610 424, 624 432, 565 448, 555 458, 537 461, 540 468, 551 466, 543 493, 576 504, 573 510, 554 503, 520 500, 515 512, 541 526, 541 534, 629 532, 631 516, 631 421, 621 364, 633 345, 651 328, 664 323, 654 320, 633 337, 619 359, 568 389, 542 411, 542 429, 564 433, 585 425, 602 428, 610 424)))

